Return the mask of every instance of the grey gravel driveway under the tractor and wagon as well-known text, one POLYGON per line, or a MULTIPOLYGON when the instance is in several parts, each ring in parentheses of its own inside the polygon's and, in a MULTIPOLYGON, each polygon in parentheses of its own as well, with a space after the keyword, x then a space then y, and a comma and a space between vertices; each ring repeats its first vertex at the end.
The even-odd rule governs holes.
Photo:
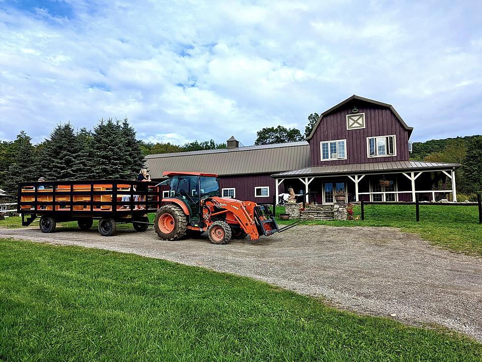
POLYGON ((363 314, 440 324, 482 341, 482 258, 437 249, 394 228, 298 226, 257 242, 162 241, 154 231, 0 229, 14 237, 162 258, 248 276, 363 314))

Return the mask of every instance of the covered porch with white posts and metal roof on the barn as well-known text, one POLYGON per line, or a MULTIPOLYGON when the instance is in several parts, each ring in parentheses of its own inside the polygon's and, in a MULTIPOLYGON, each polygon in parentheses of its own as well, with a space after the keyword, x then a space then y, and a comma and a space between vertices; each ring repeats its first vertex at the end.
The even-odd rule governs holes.
POLYGON ((418 161, 380 162, 307 167, 272 175, 277 202, 293 188, 299 202, 332 205, 336 202, 457 201, 458 164, 418 161))

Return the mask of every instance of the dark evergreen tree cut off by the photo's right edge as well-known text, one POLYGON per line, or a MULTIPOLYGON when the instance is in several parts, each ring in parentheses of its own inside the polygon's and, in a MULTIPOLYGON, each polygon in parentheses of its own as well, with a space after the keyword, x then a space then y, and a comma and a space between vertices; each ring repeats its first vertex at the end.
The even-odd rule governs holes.
POLYGON ((477 136, 467 142, 467 154, 464 162, 464 181, 470 192, 482 192, 482 136, 477 136))

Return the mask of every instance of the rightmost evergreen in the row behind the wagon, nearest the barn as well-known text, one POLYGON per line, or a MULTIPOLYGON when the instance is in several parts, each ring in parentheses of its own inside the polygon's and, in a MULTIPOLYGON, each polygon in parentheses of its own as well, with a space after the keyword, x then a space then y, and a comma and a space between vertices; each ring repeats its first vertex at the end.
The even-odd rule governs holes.
POLYGON ((122 120, 121 134, 126 152, 122 178, 131 179, 144 167, 144 155, 141 150, 141 142, 136 139, 136 131, 130 126, 127 118, 122 120))

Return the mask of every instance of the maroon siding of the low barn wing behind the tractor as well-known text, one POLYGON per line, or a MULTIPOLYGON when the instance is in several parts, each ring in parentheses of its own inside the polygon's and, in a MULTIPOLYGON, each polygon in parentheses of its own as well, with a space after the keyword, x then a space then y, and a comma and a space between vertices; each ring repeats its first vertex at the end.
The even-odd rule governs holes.
MULTIPOLYGON (((221 189, 236 188, 236 198, 242 201, 254 201, 259 204, 270 204, 275 195, 275 182, 270 177, 271 174, 262 175, 240 175, 240 176, 219 176, 219 186, 221 189), (269 186, 269 197, 254 197, 254 188, 259 186, 269 186)), ((222 194, 221 194, 222 195, 222 194)))

